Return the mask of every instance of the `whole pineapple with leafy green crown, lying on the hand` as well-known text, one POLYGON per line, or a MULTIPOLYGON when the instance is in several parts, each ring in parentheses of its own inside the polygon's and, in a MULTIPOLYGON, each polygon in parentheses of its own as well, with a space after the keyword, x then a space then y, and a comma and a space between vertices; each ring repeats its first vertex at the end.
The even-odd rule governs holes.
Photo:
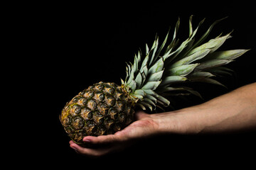
POLYGON ((229 74, 230 69, 223 65, 247 50, 216 51, 231 37, 230 33, 205 42, 213 26, 222 20, 215 21, 196 40, 196 33, 204 19, 193 30, 191 16, 189 36, 179 44, 178 18, 172 38, 169 38, 168 32, 164 42, 159 45, 159 38, 156 37, 151 48, 146 45, 144 55, 139 51, 134 63, 127 64, 127 77, 121 79, 121 86, 99 82, 81 91, 65 105, 60 115, 60 122, 70 138, 82 144, 82 138, 87 135, 114 134, 132 123, 136 106, 151 111, 156 107, 169 106, 170 101, 166 96, 184 94, 183 91, 201 96, 185 86, 185 82, 223 85, 212 77, 229 74))

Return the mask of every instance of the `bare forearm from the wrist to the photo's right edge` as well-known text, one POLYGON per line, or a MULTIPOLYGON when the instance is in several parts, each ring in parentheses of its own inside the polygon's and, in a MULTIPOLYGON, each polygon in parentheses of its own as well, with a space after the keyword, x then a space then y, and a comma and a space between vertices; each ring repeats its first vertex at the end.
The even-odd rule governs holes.
POLYGON ((162 132, 227 132, 256 128, 256 83, 201 105, 161 113, 155 118, 162 132))

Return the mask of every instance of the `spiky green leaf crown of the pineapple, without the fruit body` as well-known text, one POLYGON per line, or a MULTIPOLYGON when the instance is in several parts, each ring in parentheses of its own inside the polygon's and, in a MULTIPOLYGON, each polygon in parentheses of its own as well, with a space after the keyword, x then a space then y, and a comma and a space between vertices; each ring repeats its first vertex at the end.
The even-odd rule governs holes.
MULTIPOLYGON (((201 95, 190 87, 177 86, 183 82, 206 82, 224 86, 219 81, 211 77, 220 74, 230 74, 230 69, 223 67, 240 57, 248 50, 226 50, 219 51, 225 40, 231 38, 230 33, 219 35, 216 38, 204 42, 216 23, 225 18, 215 21, 201 38, 196 40, 195 35, 205 18, 198 24, 197 28, 192 28, 192 16, 189 18, 189 37, 178 45, 177 33, 180 19, 176 23, 174 35, 169 45, 169 32, 164 42, 159 45, 159 37, 153 42, 149 49, 146 45, 146 54, 139 51, 134 56, 134 63, 127 64, 127 77, 122 80, 122 86, 129 93, 137 106, 142 109, 158 106, 169 106, 170 101, 164 96, 170 96, 174 91, 186 91, 188 94, 201 95), (174 86, 175 85, 175 86, 174 86)), ((231 32, 232 33, 232 32, 231 32)))

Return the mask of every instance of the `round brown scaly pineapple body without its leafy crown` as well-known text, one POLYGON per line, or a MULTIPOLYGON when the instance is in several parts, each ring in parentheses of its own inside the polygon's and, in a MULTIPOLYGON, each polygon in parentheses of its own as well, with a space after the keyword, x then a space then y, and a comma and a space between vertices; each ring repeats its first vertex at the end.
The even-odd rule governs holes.
POLYGON ((114 134, 133 120, 134 101, 127 91, 102 81, 81 91, 60 114, 65 132, 78 144, 85 136, 114 134))

